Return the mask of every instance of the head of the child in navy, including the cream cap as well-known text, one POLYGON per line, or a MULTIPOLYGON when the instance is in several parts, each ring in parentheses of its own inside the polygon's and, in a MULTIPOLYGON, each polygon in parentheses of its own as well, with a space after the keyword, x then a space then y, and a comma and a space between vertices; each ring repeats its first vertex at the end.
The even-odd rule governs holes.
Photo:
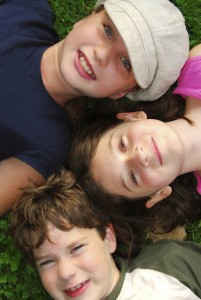
POLYGON ((170 1, 100 0, 64 39, 59 68, 77 96, 155 100, 188 52, 184 18, 170 1))

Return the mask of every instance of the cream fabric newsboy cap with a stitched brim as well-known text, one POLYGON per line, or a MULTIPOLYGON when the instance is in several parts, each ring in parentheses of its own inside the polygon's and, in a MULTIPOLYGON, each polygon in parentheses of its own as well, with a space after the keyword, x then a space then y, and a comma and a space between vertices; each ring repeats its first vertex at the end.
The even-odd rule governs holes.
POLYGON ((179 77, 188 58, 185 20, 168 0, 98 0, 125 43, 139 89, 132 100, 155 100, 179 77))

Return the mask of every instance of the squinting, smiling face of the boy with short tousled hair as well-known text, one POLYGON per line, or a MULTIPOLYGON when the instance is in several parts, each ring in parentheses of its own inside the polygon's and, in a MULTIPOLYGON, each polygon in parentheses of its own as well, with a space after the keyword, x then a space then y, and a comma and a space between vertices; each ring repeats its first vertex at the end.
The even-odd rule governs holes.
POLYGON ((104 240, 95 229, 61 231, 48 224, 49 238, 34 250, 43 286, 56 300, 100 300, 114 288, 119 271, 111 253, 116 249, 112 228, 104 240))

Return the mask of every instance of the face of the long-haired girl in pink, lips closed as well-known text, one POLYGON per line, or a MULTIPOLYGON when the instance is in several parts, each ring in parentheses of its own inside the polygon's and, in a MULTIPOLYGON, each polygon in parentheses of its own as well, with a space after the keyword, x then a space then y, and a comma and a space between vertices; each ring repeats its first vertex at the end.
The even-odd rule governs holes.
POLYGON ((150 196, 180 172, 182 145, 158 120, 123 122, 99 141, 91 171, 107 191, 129 198, 150 196))

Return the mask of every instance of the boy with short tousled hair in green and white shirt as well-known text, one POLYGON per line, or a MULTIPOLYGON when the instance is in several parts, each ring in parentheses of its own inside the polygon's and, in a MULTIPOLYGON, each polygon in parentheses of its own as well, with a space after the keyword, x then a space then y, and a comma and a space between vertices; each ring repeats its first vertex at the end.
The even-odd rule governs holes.
POLYGON ((161 241, 129 265, 113 259, 116 237, 110 217, 92 205, 70 172, 27 189, 12 211, 10 229, 53 299, 201 297, 200 245, 161 241))

